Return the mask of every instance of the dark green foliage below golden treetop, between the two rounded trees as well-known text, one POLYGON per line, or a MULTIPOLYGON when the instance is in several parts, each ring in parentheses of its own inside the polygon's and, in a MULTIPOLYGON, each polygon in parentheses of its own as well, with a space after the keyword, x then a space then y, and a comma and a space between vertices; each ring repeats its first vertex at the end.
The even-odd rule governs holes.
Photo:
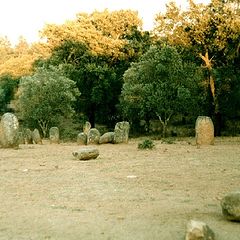
POLYGON ((61 65, 65 76, 72 79, 81 96, 75 110, 87 116, 92 126, 95 122, 112 125, 117 121, 117 104, 122 88, 122 76, 130 61, 138 59, 150 44, 150 36, 136 28, 122 36, 126 39, 122 58, 96 55, 82 42, 64 41, 54 49, 43 65, 61 65), (148 42, 148 44, 144 44, 148 42))

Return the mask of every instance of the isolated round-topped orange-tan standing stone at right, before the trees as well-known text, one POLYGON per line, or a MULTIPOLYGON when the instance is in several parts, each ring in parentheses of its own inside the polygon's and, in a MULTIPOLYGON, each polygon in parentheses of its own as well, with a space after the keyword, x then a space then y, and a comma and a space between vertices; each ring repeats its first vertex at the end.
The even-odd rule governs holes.
POLYGON ((214 144, 214 126, 210 117, 199 116, 195 125, 197 145, 214 144))

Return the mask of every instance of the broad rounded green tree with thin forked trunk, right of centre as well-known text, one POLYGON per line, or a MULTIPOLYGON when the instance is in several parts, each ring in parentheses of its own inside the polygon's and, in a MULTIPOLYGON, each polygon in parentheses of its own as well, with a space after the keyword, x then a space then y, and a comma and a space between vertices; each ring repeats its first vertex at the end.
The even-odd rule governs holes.
POLYGON ((174 114, 190 112, 192 105, 197 108, 197 99, 190 87, 193 81, 197 86, 200 76, 197 70, 193 64, 185 65, 174 47, 150 48, 124 74, 122 108, 125 115, 138 120, 158 117, 165 137, 174 114))

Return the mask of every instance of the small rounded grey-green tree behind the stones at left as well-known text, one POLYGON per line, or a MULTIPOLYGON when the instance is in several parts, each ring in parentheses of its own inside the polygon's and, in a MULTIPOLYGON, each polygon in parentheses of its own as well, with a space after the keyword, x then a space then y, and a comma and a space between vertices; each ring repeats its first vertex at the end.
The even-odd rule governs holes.
POLYGON ((73 114, 72 105, 79 91, 75 83, 56 68, 39 68, 32 76, 22 77, 16 110, 25 124, 37 124, 46 137, 50 124, 73 114))

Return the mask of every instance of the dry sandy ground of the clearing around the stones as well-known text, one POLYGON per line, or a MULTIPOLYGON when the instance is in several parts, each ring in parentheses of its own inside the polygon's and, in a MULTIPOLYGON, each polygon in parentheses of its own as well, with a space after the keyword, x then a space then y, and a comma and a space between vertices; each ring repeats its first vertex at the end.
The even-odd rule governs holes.
POLYGON ((73 143, 0 149, 0 239, 182 240, 190 219, 240 239, 220 207, 240 189, 240 138, 145 151, 139 141, 96 146, 91 161, 74 160, 73 143))

